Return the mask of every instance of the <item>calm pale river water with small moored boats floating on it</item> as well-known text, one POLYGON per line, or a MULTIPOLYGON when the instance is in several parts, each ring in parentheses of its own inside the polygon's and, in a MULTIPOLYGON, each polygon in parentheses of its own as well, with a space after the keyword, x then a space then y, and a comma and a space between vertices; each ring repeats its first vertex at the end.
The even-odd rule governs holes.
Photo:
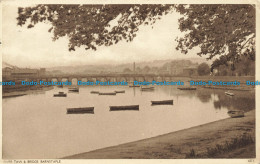
POLYGON ((3 107, 3 158, 61 158, 137 141, 229 117, 228 110, 255 108, 254 93, 199 88, 156 87, 153 92, 128 86, 68 88, 6 98, 3 107), (91 91, 125 90, 116 96, 91 91), (63 91, 67 97, 53 97, 63 91), (173 99, 174 105, 151 106, 151 100, 173 99), (139 111, 109 111, 109 106, 139 105, 139 111), (94 114, 66 114, 69 107, 95 107, 94 114))

